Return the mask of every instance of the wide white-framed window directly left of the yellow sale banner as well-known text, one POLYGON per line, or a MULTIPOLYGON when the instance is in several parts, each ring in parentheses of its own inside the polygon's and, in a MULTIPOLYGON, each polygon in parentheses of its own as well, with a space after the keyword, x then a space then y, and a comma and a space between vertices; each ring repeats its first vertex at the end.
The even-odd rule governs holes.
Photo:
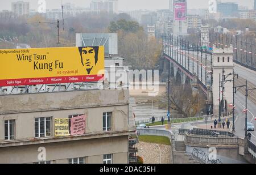
POLYGON ((35 118, 35 137, 51 136, 51 117, 35 118))

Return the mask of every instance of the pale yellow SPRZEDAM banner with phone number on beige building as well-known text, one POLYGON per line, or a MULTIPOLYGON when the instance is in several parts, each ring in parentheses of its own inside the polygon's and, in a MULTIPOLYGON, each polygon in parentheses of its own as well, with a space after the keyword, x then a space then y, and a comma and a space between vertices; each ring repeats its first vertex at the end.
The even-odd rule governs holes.
POLYGON ((68 121, 69 121, 69 118, 55 118, 54 119, 55 136, 70 135, 68 121))

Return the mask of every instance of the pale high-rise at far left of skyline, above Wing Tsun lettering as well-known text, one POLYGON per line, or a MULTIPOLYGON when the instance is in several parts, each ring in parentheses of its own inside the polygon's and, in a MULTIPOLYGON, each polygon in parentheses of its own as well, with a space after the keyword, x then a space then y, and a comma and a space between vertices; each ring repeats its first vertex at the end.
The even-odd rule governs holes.
POLYGON ((11 3, 11 11, 18 16, 26 15, 30 12, 30 3, 23 1, 13 2, 11 3))

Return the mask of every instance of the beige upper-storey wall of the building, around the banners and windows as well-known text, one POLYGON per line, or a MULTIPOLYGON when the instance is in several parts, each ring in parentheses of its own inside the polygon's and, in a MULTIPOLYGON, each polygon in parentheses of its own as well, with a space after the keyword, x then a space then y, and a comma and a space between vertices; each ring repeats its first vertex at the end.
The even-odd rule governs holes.
POLYGON ((112 130, 128 129, 128 90, 74 91, 0 96, 0 140, 4 140, 4 123, 15 119, 15 139, 35 136, 35 118, 68 118, 86 114, 85 132, 102 131, 102 114, 112 112, 112 130), (98 103, 98 104, 97 104, 98 103))

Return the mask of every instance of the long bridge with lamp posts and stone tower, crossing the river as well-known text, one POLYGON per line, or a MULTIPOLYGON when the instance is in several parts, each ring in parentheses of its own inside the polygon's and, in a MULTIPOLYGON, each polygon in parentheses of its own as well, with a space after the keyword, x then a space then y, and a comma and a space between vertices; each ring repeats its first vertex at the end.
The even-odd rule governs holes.
MULTIPOLYGON (((247 138, 247 122, 255 124, 256 120, 256 46, 232 35, 222 35, 221 39, 215 33, 208 33, 208 40, 201 45, 185 36, 161 34, 159 38, 163 74, 168 76, 170 71, 169 75, 180 78, 183 84, 197 84, 207 96, 207 113, 219 118, 234 113, 233 132, 247 138)), ((255 144, 256 132, 250 133, 255 144)))

